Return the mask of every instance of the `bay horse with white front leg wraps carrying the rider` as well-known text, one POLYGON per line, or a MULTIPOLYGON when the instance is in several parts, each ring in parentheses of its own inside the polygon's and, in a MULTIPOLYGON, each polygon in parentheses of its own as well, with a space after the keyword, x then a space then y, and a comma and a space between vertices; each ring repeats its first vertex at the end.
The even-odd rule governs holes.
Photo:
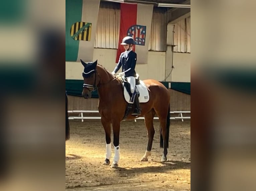
MULTIPOLYGON (((111 158, 111 124, 114 134, 114 148, 115 156, 112 168, 118 167, 119 162, 119 132, 120 123, 124 118, 127 102, 123 94, 122 82, 115 78, 103 66, 95 62, 85 63, 81 60, 84 66, 82 73, 84 78, 82 96, 86 99, 91 98, 92 91, 98 90, 99 103, 98 110, 101 115, 101 123, 105 130, 106 135, 106 159, 105 165, 110 164, 111 158)), ((148 156, 151 155, 152 142, 154 137, 153 118, 155 114, 160 120, 160 147, 163 148, 163 155, 161 162, 167 160, 167 148, 169 141, 169 126, 170 126, 170 93, 160 82, 156 80, 144 80, 149 92, 149 100, 146 103, 140 103, 141 115, 132 116, 131 113, 125 120, 135 119, 144 116, 145 125, 148 134, 147 149, 141 161, 148 161, 148 156)))

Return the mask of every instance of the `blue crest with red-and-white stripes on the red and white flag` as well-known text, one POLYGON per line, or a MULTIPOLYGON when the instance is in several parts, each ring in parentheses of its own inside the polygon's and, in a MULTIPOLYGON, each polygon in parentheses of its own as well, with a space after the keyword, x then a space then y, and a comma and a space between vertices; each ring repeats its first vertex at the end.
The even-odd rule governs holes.
POLYGON ((133 25, 127 31, 127 36, 134 39, 135 45, 145 46, 146 41, 146 26, 133 25))

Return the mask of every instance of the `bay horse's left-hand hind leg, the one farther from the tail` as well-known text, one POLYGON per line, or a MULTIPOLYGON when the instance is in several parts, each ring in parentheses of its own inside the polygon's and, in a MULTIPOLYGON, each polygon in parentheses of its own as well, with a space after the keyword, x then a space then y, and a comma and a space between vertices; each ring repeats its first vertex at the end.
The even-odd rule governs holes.
POLYGON ((148 161, 148 156, 151 155, 152 143, 153 143, 153 138, 154 138, 154 134, 155 134, 155 129, 154 129, 154 125, 153 125, 154 115, 155 115, 154 109, 152 109, 151 112, 144 115, 145 125, 146 125, 147 133, 148 133, 148 144, 147 144, 147 150, 146 150, 145 154, 140 159, 141 161, 148 161))

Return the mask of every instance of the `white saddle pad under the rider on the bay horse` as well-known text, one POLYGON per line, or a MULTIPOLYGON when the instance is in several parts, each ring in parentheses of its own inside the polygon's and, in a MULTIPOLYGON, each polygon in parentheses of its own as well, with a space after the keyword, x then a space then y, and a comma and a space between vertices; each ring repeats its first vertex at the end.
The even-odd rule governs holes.
MULTIPOLYGON (((148 102, 149 100, 149 93, 148 93, 148 89, 146 87, 146 85, 144 84, 144 82, 142 82, 140 80, 140 84, 139 85, 136 85, 137 87, 137 90, 139 91, 139 102, 140 103, 146 103, 148 102)), ((130 95, 129 93, 127 92, 126 88, 123 86, 123 89, 124 89, 124 97, 125 97, 125 100, 128 102, 128 103, 132 103, 130 102, 130 95)))

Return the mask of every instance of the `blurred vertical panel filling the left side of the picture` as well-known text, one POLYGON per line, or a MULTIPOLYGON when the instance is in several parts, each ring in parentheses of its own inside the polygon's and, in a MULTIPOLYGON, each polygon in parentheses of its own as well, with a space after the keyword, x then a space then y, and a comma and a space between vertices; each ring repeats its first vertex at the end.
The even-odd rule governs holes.
POLYGON ((0 1, 0 190, 65 189, 65 1, 0 1))

